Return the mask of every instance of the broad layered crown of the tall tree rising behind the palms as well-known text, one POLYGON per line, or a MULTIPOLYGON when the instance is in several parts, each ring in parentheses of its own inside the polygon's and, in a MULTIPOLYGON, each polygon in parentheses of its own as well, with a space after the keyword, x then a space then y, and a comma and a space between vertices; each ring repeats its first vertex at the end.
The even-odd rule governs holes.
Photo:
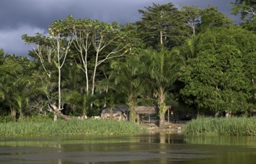
POLYGON ((186 26, 174 4, 153 4, 144 8, 138 10, 142 16, 136 24, 147 47, 170 49, 183 42, 187 36, 186 26))

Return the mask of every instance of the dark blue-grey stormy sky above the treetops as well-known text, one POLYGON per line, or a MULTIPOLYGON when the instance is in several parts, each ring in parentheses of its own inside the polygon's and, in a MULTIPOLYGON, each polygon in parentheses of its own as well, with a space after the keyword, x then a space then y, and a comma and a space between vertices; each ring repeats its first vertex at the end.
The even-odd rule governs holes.
POLYGON ((7 54, 28 55, 30 45, 21 39, 23 34, 48 33, 48 26, 57 19, 73 15, 76 19, 99 19, 103 22, 136 22, 139 9, 171 2, 180 5, 207 7, 214 5, 230 16, 232 0, 1 0, 0 48, 7 54))

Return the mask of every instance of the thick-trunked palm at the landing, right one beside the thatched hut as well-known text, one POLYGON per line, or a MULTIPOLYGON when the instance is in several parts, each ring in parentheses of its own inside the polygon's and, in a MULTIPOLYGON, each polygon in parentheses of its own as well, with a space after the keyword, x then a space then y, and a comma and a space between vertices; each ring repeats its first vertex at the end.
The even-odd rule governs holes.
POLYGON ((180 57, 178 51, 161 50, 159 52, 152 49, 146 49, 141 52, 141 63, 144 65, 144 72, 150 88, 153 89, 153 95, 156 96, 159 106, 159 127, 164 126, 165 113, 168 110, 165 99, 168 90, 177 80, 177 72, 183 65, 183 57, 180 57))

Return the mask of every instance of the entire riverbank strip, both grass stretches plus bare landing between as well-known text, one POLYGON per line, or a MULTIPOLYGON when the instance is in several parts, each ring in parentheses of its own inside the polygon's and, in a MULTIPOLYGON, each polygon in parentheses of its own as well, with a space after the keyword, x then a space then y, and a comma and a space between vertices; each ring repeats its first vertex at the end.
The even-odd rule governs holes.
POLYGON ((26 119, 18 122, 1 122, 0 136, 110 136, 141 133, 182 133, 188 136, 256 136, 256 117, 252 118, 201 118, 192 121, 136 124, 106 119, 58 120, 26 119))

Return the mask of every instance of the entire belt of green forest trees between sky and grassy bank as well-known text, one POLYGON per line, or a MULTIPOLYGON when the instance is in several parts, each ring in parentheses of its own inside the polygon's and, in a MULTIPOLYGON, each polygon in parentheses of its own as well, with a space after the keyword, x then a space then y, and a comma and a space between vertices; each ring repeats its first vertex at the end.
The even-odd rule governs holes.
MULTIPOLYGON (((104 107, 166 106, 196 115, 256 110, 256 1, 217 7, 152 4, 121 25, 67 16, 22 35, 29 57, 0 49, 0 116, 99 116, 104 107)), ((4 119, 6 121, 6 119, 4 119)), ((1 120, 1 122, 3 119, 1 120)), ((5 122, 4 121, 4 122, 5 122)))

